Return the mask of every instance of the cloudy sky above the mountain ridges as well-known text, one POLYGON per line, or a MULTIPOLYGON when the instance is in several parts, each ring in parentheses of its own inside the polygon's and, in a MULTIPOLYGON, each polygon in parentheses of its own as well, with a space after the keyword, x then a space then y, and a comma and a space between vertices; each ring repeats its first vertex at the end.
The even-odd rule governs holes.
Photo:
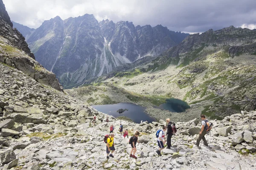
POLYGON ((188 33, 228 26, 256 28, 256 0, 3 0, 12 21, 38 28, 56 17, 93 14, 103 19, 133 22, 135 26, 161 24, 188 33))

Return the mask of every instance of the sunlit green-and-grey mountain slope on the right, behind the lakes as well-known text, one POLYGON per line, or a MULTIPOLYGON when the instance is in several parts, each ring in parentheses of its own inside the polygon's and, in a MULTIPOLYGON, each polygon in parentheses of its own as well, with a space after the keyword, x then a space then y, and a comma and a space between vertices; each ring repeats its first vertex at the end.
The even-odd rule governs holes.
MULTIPOLYGON (((160 111, 147 105, 151 116, 193 119, 198 113, 222 119, 240 110, 256 108, 256 31, 233 26, 193 34, 147 64, 123 67, 96 80, 114 102, 119 88, 130 94, 174 97, 191 105, 184 114, 160 111)), ((90 87, 90 86, 89 86, 90 87)), ((88 87, 88 88, 89 88, 88 87)), ((70 93, 72 94, 72 92, 70 93)), ((74 92, 76 94, 76 92, 74 92)), ((100 94, 89 89, 84 100, 97 102, 100 94)), ((119 97, 121 98, 121 97, 119 97)), ((134 98, 131 98, 136 102, 134 98)), ((125 102, 129 102, 128 100, 125 102)), ((93 104, 93 102, 92 102, 93 104)))

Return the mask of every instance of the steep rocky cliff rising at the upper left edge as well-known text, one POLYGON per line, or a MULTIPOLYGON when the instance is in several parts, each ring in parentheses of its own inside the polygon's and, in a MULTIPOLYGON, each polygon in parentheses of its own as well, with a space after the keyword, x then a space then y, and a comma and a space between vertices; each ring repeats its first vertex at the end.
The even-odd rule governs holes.
POLYGON ((12 22, 0 0, 0 62, 17 68, 38 82, 63 91, 55 74, 44 69, 35 61, 34 54, 30 52, 25 38, 17 29, 12 28, 12 22))

